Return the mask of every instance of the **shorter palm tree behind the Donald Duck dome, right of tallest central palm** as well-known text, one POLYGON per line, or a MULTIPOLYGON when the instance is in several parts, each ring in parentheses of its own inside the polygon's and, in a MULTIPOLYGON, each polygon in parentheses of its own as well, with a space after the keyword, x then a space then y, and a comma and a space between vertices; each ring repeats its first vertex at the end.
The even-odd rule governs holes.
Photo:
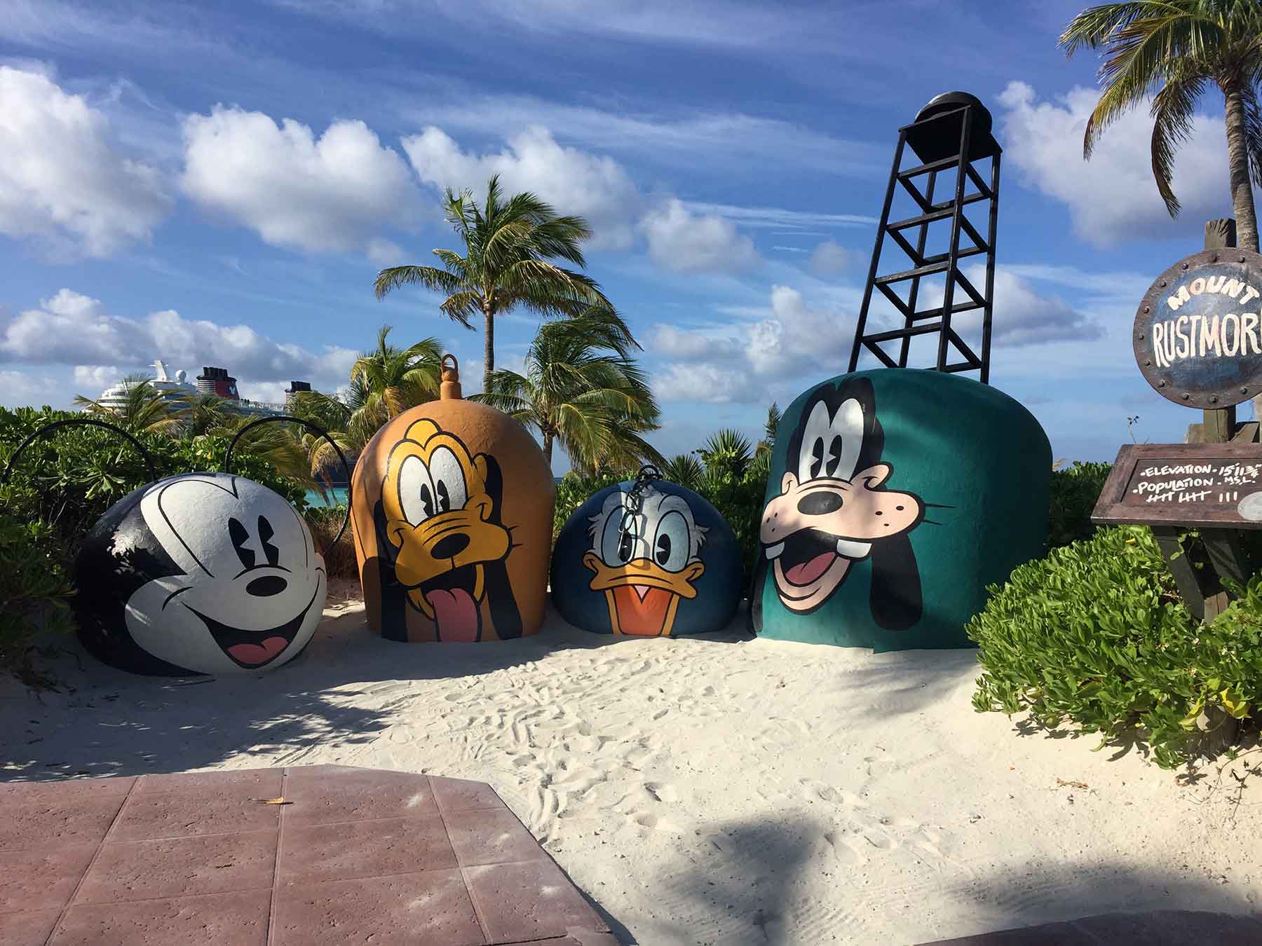
POLYGON ((526 351, 525 375, 496 371, 473 400, 516 418, 543 438, 551 463, 559 441, 579 469, 664 463, 640 434, 658 429, 658 402, 630 356, 639 348, 608 305, 545 322, 526 351))

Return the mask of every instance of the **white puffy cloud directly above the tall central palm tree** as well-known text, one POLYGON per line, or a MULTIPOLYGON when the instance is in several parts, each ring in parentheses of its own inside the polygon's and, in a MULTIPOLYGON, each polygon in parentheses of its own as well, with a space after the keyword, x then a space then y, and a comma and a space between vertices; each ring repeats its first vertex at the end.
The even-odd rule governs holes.
POLYGON ((531 190, 559 213, 578 214, 592 225, 592 246, 626 248, 642 198, 616 160, 557 144, 545 127, 531 126, 514 135, 497 154, 462 151, 438 127, 403 139, 416 174, 437 188, 473 192, 481 206, 486 182, 500 175, 507 193, 531 190))

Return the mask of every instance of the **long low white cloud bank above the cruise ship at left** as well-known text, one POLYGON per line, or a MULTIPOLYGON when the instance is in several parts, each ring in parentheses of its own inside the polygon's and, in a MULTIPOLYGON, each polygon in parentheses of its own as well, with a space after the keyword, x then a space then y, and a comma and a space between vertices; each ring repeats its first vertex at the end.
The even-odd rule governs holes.
POLYGON ((143 366, 156 357, 191 375, 220 365, 242 381, 307 378, 327 386, 345 382, 356 352, 333 346, 310 352, 249 325, 187 319, 170 309, 144 318, 111 315, 100 300, 69 289, 0 319, 0 362, 80 366, 74 380, 85 386, 103 372, 87 366, 143 366))

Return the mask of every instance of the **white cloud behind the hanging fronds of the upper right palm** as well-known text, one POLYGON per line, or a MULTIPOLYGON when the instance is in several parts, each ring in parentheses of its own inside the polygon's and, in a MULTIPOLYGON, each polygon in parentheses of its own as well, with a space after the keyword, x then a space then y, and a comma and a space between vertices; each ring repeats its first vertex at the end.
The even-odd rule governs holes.
POLYGON ((1083 132, 1099 92, 1074 88, 1055 102, 1010 82, 1000 103, 1000 139, 1025 182, 1064 203, 1074 232, 1095 246, 1136 237, 1172 237, 1189 222, 1230 217, 1227 149, 1222 119, 1198 115, 1175 159, 1172 187, 1182 209, 1175 222, 1152 180, 1152 119, 1140 107, 1104 130, 1092 159, 1083 160, 1083 132))

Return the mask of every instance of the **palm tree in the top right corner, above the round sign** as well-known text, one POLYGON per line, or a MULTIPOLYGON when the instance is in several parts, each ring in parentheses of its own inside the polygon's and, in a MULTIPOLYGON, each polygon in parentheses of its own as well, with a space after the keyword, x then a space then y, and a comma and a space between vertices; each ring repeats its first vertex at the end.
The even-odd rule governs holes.
POLYGON ((1104 48, 1103 93, 1083 137, 1090 158, 1104 129, 1152 96, 1152 177, 1170 216, 1174 155, 1191 134, 1196 100, 1210 83, 1227 112, 1227 165, 1241 246, 1258 250, 1249 182, 1262 184, 1262 4, 1257 0, 1138 0, 1083 10, 1065 28, 1066 55, 1104 48), (1153 95, 1155 92, 1155 95, 1153 95))

